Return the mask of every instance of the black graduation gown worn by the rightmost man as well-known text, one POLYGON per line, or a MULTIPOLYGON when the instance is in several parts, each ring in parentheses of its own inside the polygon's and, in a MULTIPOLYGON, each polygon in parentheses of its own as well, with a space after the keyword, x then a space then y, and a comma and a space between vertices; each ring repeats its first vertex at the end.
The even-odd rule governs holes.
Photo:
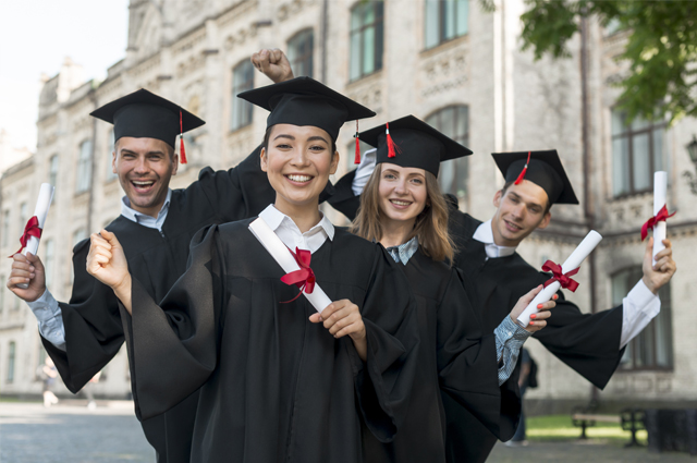
MULTIPOLYGON (((476 281, 475 305, 479 306, 486 332, 493 330, 509 315, 517 300, 550 275, 527 264, 517 253, 496 259, 486 258, 484 243, 473 239, 481 222, 469 215, 452 210, 450 232, 457 246, 455 266, 476 281)), ((624 349, 620 349, 622 306, 597 314, 583 314, 560 291, 557 307, 547 327, 533 336, 566 365, 598 388, 604 388, 616 369, 624 349)), ((516 367, 502 386, 502 395, 517 395, 516 367)), ((448 452, 450 462, 484 462, 497 438, 474 415, 449 398, 443 398, 448 415, 448 452)))

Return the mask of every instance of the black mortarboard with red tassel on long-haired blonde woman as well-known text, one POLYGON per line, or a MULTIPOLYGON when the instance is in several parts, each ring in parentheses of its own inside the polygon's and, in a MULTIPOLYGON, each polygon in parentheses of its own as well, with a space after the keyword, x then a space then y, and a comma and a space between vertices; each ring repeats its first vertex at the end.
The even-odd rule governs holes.
POLYGON ((362 132, 360 138, 378 148, 377 163, 420 168, 437 176, 442 161, 472 155, 469 149, 413 115, 362 132))

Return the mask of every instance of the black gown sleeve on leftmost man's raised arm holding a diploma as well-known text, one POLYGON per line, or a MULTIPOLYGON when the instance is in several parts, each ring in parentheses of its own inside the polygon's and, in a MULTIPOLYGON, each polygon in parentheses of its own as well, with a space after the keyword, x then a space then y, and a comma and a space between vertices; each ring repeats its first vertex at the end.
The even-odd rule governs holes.
POLYGON ((77 393, 121 349, 123 328, 111 288, 87 273, 89 240, 73 249, 74 282, 69 303, 59 302, 65 328, 65 351, 41 338, 65 387, 77 393))

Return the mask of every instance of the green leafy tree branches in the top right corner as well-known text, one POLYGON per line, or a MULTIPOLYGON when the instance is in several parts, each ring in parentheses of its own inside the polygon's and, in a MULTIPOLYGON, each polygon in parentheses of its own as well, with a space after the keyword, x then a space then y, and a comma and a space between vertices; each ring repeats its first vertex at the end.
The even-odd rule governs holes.
POLYGON ((629 72, 616 85, 619 107, 629 120, 697 117, 697 2, 670 0, 526 0, 521 16, 523 49, 535 59, 549 53, 570 57, 566 44, 579 31, 580 19, 598 17, 627 37, 624 51, 629 72))

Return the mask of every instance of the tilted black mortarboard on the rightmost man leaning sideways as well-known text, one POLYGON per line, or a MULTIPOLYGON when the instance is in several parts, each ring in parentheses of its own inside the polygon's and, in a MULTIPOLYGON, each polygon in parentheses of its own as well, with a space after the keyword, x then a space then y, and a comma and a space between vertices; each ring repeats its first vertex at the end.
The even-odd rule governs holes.
POLYGON ((550 204, 578 204, 557 149, 494 153, 491 156, 506 182, 529 180, 545 190, 550 204))

